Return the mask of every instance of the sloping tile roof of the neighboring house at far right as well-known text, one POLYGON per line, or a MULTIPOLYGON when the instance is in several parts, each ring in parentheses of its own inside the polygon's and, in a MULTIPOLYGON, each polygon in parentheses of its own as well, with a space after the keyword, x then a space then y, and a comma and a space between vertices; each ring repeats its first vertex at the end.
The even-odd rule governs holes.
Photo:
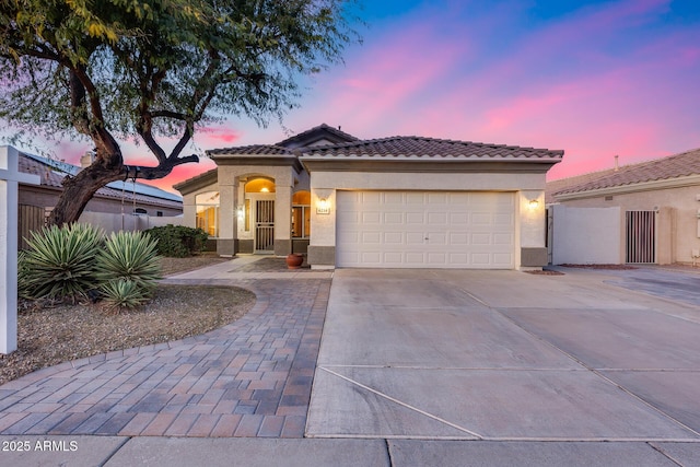
POLYGON ((700 148, 599 174, 591 180, 552 191, 553 196, 700 175, 700 148))

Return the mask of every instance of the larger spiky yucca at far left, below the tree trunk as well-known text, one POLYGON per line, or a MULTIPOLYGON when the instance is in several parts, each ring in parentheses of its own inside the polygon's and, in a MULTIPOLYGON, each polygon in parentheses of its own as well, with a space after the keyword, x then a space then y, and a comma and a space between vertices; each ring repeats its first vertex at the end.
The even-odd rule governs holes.
POLYGON ((30 249, 20 262, 26 296, 77 300, 95 287, 94 261, 103 233, 89 224, 73 223, 32 232, 30 249))

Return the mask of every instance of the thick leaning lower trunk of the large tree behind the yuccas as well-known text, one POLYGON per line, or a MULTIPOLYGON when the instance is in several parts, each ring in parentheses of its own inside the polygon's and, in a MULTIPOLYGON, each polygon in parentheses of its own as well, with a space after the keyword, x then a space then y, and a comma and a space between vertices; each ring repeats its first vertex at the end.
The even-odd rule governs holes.
POLYGON ((63 225, 78 221, 93 195, 110 182, 124 179, 121 166, 105 168, 98 161, 75 176, 63 178, 63 191, 49 215, 49 224, 63 225))

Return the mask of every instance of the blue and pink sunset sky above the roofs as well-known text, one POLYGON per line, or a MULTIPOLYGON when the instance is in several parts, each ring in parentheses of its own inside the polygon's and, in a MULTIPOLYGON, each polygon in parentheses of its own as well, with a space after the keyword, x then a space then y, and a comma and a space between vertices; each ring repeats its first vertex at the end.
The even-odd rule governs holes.
MULTIPOLYGON (((363 45, 305 81, 292 132, 322 122, 361 139, 423 136, 564 150, 556 179, 700 147, 700 2, 366 0, 363 45), (378 3, 378 4, 373 4, 378 3)), ((186 153, 291 133, 230 119, 186 153)), ((89 144, 62 142, 78 163, 89 144)), ((124 144, 127 163, 153 165, 124 144)), ((177 167, 172 185, 214 166, 177 167)))

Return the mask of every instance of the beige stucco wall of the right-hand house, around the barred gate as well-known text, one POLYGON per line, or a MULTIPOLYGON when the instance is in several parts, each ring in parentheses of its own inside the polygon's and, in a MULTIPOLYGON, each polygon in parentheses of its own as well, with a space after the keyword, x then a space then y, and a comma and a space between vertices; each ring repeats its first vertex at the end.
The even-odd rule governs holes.
MULTIPOLYGON (((657 262, 691 262, 692 249, 700 249, 698 210, 700 201, 700 185, 686 187, 669 187, 633 192, 607 194, 612 197, 606 200, 606 195, 591 196, 581 199, 562 200, 570 207, 605 208, 619 207, 620 222, 625 225, 626 211, 658 211, 657 213, 657 262)), ((626 243, 622 229, 621 257, 625 258, 626 243)), ((623 260, 623 259, 622 259, 623 260)))

